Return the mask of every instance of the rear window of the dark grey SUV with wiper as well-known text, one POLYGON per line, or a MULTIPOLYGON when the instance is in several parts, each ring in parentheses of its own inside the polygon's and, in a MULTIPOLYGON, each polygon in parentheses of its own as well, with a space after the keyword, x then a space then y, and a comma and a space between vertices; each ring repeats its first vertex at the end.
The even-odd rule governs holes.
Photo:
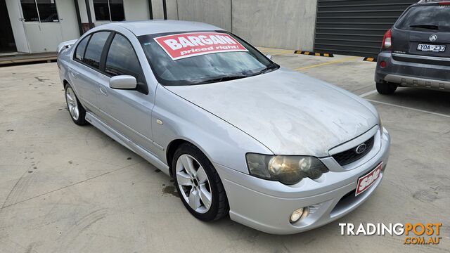
POLYGON ((402 30, 450 32, 450 6, 416 6, 397 22, 402 30))

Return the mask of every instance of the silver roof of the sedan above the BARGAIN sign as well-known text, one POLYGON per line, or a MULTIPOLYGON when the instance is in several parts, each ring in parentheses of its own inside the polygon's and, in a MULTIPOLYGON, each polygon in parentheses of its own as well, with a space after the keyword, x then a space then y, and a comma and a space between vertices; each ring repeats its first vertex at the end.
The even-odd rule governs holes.
POLYGON ((110 28, 114 30, 115 26, 124 27, 133 32, 136 36, 146 34, 160 34, 165 32, 188 32, 188 31, 212 31, 223 30, 214 25, 208 25, 203 22, 180 21, 180 20, 143 20, 143 21, 124 21, 112 22, 98 26, 103 29, 110 28))

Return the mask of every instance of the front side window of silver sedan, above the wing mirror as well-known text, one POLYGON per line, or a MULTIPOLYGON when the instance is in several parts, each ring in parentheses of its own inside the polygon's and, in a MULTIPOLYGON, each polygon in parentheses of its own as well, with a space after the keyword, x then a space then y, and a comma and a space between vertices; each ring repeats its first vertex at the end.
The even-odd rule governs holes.
POLYGON ((106 58, 105 72, 115 75, 127 74, 136 77, 139 81, 141 77, 141 65, 134 53, 133 46, 131 46, 128 39, 125 39, 120 34, 115 34, 111 42, 108 57, 106 58))

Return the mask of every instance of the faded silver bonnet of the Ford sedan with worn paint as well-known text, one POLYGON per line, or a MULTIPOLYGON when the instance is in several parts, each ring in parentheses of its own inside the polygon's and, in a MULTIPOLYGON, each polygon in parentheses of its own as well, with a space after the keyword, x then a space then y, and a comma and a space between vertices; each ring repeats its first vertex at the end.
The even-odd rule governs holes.
POLYGON ((165 87, 276 155, 328 156, 330 148, 378 124, 361 98, 285 69, 229 82, 165 87))

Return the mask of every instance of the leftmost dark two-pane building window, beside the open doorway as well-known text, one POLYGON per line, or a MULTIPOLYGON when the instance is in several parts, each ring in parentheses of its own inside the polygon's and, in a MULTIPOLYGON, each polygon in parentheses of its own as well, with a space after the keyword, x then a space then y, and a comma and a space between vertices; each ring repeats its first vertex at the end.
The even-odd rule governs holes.
POLYGON ((25 22, 59 22, 55 0, 20 0, 25 22))

